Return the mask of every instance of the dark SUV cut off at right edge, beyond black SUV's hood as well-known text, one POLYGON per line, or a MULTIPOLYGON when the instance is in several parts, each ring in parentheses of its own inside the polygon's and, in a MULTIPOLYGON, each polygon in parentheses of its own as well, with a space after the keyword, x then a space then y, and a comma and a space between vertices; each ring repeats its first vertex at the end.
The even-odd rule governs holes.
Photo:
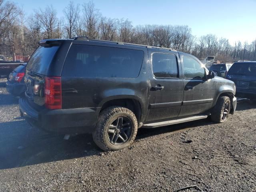
POLYGON ((238 96, 256 100, 256 62, 235 62, 226 79, 236 84, 238 96))

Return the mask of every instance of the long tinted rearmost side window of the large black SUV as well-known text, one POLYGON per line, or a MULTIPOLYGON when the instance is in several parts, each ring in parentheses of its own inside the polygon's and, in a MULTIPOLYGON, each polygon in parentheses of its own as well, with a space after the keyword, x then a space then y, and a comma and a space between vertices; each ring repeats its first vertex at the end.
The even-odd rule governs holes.
POLYGON ((143 56, 140 50, 72 45, 62 76, 135 78, 140 73, 143 56))

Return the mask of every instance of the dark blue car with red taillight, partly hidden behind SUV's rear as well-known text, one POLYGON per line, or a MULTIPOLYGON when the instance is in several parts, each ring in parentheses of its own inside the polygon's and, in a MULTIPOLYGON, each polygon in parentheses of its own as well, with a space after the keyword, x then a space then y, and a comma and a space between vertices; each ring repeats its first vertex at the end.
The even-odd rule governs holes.
POLYGON ((24 82, 26 65, 26 63, 23 63, 16 67, 10 73, 8 81, 6 82, 7 91, 14 96, 24 96, 24 93, 26 91, 26 85, 24 82))

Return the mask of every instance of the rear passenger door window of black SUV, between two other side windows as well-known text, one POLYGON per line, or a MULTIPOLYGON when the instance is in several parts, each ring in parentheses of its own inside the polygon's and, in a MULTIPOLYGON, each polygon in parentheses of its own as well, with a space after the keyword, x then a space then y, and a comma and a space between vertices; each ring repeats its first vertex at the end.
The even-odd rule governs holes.
POLYGON ((178 66, 175 55, 154 53, 152 67, 155 77, 178 78, 178 66))

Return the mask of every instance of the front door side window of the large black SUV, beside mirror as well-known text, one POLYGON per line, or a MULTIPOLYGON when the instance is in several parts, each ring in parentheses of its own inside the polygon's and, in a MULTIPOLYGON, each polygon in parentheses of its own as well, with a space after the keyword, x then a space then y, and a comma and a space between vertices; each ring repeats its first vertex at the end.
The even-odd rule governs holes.
POLYGON ((191 79, 202 79, 205 77, 205 69, 192 57, 182 56, 184 77, 191 79))

